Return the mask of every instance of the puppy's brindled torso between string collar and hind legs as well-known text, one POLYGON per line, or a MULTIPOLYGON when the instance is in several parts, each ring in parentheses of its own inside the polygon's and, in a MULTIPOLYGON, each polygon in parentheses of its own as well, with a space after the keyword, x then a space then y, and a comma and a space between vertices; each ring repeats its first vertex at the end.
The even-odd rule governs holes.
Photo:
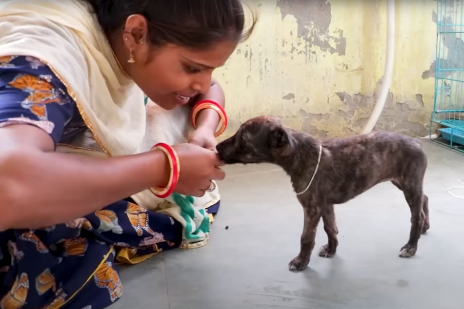
POLYGON ((417 139, 376 132, 322 141, 324 157, 315 179, 330 204, 341 204, 376 184, 416 174, 422 180, 426 155, 417 139), (330 194, 328 194, 330 192, 330 194))

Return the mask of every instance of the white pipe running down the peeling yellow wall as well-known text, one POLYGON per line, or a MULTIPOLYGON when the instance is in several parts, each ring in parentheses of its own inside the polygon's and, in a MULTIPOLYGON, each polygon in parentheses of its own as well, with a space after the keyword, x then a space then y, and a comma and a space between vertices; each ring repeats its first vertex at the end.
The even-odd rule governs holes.
POLYGON ((386 45, 386 58, 385 69, 383 73, 383 80, 380 89, 380 94, 375 104, 374 110, 363 129, 363 134, 369 133, 374 129, 375 124, 379 120, 382 113, 385 101, 390 89, 393 61, 395 58, 395 0, 386 0, 387 5, 387 45, 386 45))

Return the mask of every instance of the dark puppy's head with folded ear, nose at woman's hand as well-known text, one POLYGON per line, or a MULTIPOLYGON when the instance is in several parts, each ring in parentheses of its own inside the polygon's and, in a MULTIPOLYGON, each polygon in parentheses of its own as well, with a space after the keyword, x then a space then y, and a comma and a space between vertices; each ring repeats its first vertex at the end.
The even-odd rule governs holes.
POLYGON ((293 137, 274 116, 258 116, 244 122, 216 149, 225 164, 277 163, 291 154, 293 137))

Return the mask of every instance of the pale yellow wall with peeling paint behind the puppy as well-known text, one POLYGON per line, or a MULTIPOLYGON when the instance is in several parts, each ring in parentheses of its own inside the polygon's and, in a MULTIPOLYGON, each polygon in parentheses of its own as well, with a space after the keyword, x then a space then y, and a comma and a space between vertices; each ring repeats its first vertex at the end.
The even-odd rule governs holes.
MULTIPOLYGON (((214 76, 227 99, 226 136, 262 114, 317 136, 361 132, 386 51, 384 0, 253 0, 259 23, 214 76)), ((428 133, 437 2, 395 2, 393 81, 375 130, 428 133)))

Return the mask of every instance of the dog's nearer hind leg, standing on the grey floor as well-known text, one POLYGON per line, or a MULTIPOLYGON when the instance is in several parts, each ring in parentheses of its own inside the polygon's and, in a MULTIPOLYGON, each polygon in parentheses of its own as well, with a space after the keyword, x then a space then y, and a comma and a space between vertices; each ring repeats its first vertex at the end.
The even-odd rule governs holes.
MULTIPOLYGON (((409 232, 408 242, 401 248, 401 257, 411 257, 417 251, 417 243, 423 232, 425 223, 425 214, 423 210, 424 193, 422 192, 422 183, 415 179, 405 179, 403 187, 404 197, 411 210, 411 230, 409 232)), ((421 180, 421 179, 419 179, 421 180)))

